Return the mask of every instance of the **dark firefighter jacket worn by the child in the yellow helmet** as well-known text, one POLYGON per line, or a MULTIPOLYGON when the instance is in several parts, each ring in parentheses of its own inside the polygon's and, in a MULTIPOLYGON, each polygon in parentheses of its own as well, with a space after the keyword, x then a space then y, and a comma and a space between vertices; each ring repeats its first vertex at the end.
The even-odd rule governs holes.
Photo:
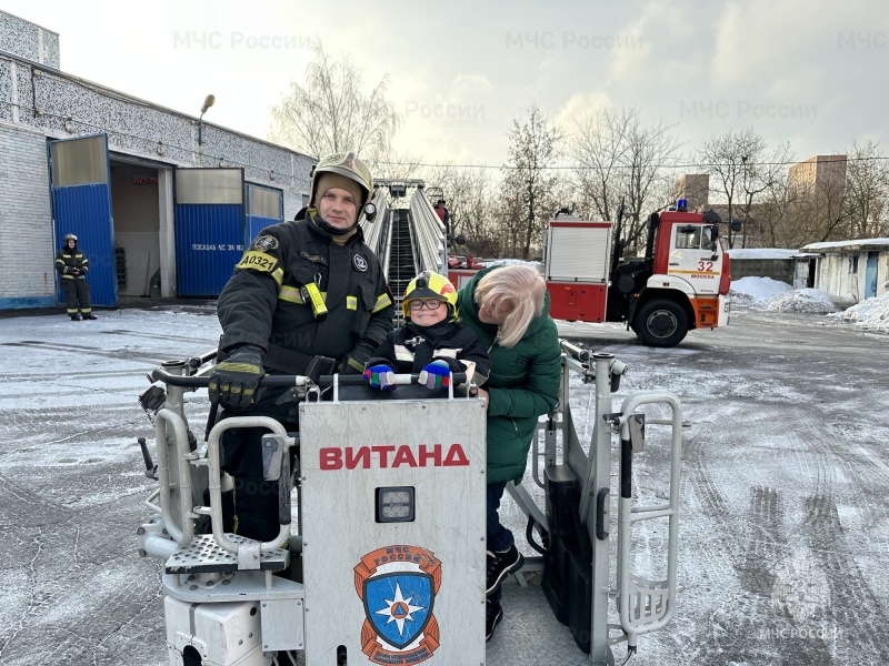
POLYGON ((444 361, 452 373, 467 372, 481 386, 491 371, 491 359, 476 333, 455 322, 418 326, 407 322, 392 331, 368 361, 388 365, 397 373, 418 373, 432 361, 444 361))

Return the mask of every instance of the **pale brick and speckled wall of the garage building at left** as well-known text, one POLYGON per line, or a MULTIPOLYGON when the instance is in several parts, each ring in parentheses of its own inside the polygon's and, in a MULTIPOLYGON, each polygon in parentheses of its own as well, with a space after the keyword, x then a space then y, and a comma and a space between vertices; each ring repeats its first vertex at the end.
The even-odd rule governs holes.
MULTIPOLYGON (((163 295, 176 287, 176 169, 241 169, 246 183, 281 192, 284 220, 303 206, 314 158, 62 72, 59 64, 57 33, 0 10, 0 310, 56 304, 48 140, 104 134, 111 169, 138 163, 158 176, 156 186, 166 190, 158 191, 151 245, 160 250, 153 254, 163 295)), ((114 231, 124 250, 147 245, 130 243, 126 224, 114 231)))

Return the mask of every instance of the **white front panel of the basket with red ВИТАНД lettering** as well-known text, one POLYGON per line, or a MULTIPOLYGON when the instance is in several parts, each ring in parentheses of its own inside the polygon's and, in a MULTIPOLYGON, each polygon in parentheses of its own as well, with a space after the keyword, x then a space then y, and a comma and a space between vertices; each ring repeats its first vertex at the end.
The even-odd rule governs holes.
POLYGON ((307 664, 340 646, 349 663, 483 663, 486 415, 477 400, 301 410, 307 664), (402 488, 413 519, 378 522, 378 492, 402 488))

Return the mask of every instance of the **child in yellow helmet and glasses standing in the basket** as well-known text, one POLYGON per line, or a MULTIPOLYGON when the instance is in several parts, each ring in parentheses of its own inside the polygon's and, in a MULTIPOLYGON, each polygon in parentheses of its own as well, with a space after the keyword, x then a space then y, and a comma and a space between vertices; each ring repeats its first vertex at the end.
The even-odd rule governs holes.
POLYGON ((447 278, 423 271, 410 281, 401 301, 406 323, 364 364, 374 389, 394 391, 396 373, 420 373, 427 389, 447 386, 449 373, 465 372, 467 383, 488 379, 491 360, 476 333, 459 323, 457 290, 447 278))

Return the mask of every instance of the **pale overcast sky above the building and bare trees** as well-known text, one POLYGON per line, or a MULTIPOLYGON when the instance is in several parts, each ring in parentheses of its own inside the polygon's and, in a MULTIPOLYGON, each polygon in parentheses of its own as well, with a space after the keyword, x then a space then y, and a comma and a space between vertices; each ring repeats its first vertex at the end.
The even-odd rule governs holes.
MULTIPOLYGON (((570 131, 607 104, 676 124, 685 149, 753 128, 797 159, 886 137, 883 0, 0 0, 59 32, 62 70, 266 137, 320 37, 368 84, 388 72, 396 148, 424 162, 500 165, 537 102, 570 131)), ((883 147, 885 148, 885 147, 883 147)))

